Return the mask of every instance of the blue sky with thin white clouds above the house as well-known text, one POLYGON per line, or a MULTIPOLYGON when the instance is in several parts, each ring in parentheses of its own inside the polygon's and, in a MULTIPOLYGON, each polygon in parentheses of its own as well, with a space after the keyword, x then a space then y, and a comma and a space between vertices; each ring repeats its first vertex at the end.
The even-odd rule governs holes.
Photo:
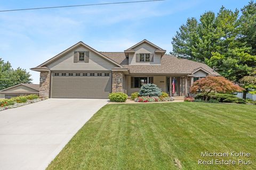
MULTIPOLYGON (((45 6, 81 5, 134 0, 9 0, 0 1, 0 10, 45 6)), ((147 39, 172 50, 172 37, 191 17, 206 11, 218 13, 223 5, 241 9, 249 1, 194 0, 53 8, 0 12, 0 58, 14 69, 21 67, 39 83, 39 72, 31 71, 63 50, 83 41, 100 52, 123 52, 147 39)))

